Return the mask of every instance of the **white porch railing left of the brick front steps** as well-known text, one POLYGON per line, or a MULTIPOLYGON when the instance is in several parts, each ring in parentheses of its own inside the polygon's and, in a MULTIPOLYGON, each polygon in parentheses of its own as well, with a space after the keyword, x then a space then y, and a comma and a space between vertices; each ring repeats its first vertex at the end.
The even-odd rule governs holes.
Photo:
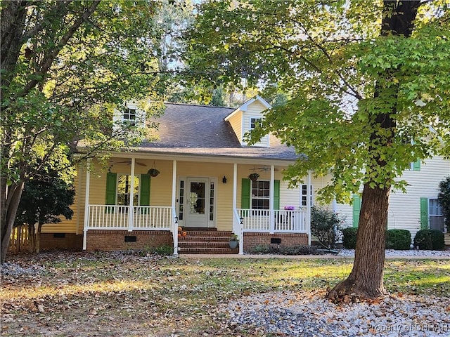
POLYGON ((173 230, 171 206, 133 206, 129 223, 129 206, 89 205, 86 230, 173 230))

